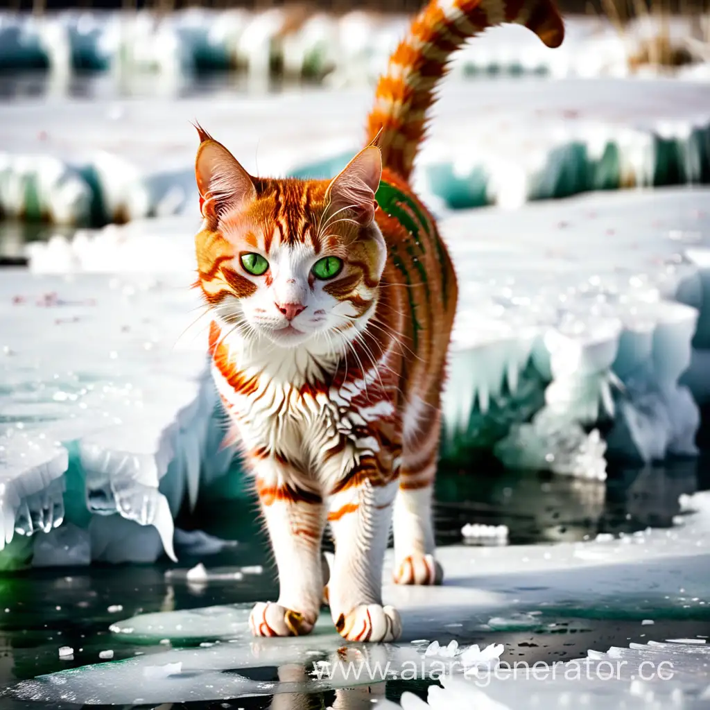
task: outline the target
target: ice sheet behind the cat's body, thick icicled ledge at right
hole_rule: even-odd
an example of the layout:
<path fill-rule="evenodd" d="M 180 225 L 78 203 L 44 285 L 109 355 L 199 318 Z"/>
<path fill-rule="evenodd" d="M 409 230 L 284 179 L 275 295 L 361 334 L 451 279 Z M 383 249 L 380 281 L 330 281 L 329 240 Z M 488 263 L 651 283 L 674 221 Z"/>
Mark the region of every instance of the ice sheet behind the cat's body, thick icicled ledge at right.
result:
<path fill-rule="evenodd" d="M 494 449 L 509 466 L 595 479 L 608 456 L 694 454 L 709 200 L 699 188 L 605 192 L 445 217 L 461 295 L 444 454 Z M 111 271 L 145 264 L 142 252 L 180 272 L 191 229 L 171 219 L 56 239 L 34 247 L 31 268 Z M 595 427 L 612 420 L 604 439 Z"/>

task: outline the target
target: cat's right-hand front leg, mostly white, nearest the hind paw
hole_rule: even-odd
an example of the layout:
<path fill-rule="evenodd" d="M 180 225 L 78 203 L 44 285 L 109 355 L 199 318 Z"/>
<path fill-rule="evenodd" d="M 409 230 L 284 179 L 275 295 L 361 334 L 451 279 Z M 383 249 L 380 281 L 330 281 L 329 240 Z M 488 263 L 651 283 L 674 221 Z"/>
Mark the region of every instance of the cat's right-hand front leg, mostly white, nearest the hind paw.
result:
<path fill-rule="evenodd" d="M 402 631 L 397 610 L 382 605 L 382 567 L 397 488 L 396 477 L 383 480 L 374 457 L 365 456 L 329 498 L 335 542 L 330 611 L 339 633 L 351 641 L 393 641 Z"/>

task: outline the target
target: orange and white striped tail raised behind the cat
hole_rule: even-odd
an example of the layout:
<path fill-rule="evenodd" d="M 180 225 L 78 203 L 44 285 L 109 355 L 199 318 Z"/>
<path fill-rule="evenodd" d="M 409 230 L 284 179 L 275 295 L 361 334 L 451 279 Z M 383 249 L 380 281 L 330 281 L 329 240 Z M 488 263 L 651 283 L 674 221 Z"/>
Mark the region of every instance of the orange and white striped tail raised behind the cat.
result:
<path fill-rule="evenodd" d="M 367 142 L 377 138 L 386 168 L 409 179 L 434 89 L 452 53 L 469 37 L 506 22 L 525 25 L 551 48 L 564 39 L 553 0 L 430 0 L 417 15 L 377 85 L 368 117 Z"/>

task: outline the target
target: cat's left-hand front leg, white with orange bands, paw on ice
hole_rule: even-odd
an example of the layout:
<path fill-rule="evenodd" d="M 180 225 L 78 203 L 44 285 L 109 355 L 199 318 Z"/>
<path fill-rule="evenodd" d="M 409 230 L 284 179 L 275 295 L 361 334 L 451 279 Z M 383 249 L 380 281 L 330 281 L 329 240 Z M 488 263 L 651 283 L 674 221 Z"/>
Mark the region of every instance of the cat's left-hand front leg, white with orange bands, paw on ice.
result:
<path fill-rule="evenodd" d="M 255 636 L 300 636 L 315 625 L 323 594 L 320 543 L 324 505 L 296 471 L 275 457 L 253 462 L 256 490 L 278 567 L 278 602 L 251 612 Z"/>

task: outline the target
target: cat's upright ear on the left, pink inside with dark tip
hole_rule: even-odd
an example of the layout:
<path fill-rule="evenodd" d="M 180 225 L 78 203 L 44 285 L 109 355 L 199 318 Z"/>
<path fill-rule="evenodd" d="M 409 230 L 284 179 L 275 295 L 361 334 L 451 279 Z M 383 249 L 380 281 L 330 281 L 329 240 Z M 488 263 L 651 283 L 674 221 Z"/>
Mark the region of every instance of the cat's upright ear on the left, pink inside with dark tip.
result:
<path fill-rule="evenodd" d="M 200 190 L 203 217 L 221 217 L 230 209 L 239 209 L 256 197 L 251 175 L 223 145 L 217 143 L 201 126 L 195 126 L 200 148 L 195 158 L 195 180 Z"/>

